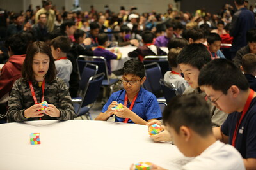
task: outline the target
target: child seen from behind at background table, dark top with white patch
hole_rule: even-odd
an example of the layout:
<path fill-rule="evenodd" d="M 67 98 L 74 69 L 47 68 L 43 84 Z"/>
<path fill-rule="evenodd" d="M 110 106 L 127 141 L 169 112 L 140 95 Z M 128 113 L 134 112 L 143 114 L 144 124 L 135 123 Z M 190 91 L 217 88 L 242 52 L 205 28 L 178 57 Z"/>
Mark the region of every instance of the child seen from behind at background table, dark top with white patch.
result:
<path fill-rule="evenodd" d="M 147 55 L 167 55 L 166 52 L 161 50 L 159 46 L 153 45 L 153 39 L 154 34 L 150 31 L 144 31 L 142 33 L 142 40 L 144 43 L 144 46 L 138 46 L 136 50 L 129 52 L 128 56 L 135 58 L 138 57 L 138 59 L 143 62 L 143 59 Z"/>

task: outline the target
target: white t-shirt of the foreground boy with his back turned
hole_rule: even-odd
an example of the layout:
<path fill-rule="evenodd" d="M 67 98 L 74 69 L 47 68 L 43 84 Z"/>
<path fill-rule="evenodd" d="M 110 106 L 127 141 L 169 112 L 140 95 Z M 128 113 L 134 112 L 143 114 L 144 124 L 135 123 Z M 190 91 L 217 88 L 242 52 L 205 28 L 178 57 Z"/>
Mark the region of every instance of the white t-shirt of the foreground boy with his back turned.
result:
<path fill-rule="evenodd" d="M 244 170 L 243 158 L 231 145 L 216 141 L 182 167 L 184 170 Z"/>

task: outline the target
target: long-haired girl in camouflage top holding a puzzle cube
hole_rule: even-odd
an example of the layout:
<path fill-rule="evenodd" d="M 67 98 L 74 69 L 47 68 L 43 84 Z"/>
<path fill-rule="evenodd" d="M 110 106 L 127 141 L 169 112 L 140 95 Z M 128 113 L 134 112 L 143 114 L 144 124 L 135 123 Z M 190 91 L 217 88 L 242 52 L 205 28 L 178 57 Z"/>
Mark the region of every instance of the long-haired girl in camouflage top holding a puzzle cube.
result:
<path fill-rule="evenodd" d="M 48 107 L 40 110 L 42 101 Z M 40 110 L 40 111 L 38 111 Z M 70 120 L 75 112 L 66 83 L 56 78 L 51 48 L 42 41 L 28 46 L 22 78 L 15 81 L 8 101 L 8 122 Z"/>

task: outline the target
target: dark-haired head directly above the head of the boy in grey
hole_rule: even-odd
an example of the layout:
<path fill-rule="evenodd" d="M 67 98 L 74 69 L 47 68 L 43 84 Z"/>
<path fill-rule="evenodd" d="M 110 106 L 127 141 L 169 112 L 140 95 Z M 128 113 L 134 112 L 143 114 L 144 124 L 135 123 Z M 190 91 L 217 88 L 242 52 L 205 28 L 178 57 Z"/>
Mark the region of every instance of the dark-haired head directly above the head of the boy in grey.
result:
<path fill-rule="evenodd" d="M 183 37 L 187 39 L 189 44 L 192 43 L 204 43 L 205 41 L 205 34 L 202 29 L 199 28 L 192 28 L 188 31 L 184 32 Z"/>

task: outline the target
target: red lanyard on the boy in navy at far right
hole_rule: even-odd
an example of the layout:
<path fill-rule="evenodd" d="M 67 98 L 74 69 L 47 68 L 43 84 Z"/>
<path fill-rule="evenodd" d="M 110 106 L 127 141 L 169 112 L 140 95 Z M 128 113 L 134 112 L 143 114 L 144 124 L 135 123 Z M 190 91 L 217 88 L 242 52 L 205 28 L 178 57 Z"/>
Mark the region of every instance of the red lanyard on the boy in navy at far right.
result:
<path fill-rule="evenodd" d="M 247 112 L 248 109 L 249 109 L 249 106 L 250 106 L 251 101 L 252 101 L 252 99 L 253 99 L 253 94 L 254 94 L 254 91 L 251 89 L 250 94 L 249 94 L 249 96 L 248 96 L 248 98 L 247 98 L 247 101 L 246 101 L 246 103 L 245 103 L 245 106 L 244 106 L 244 110 L 243 110 L 243 112 L 242 112 L 242 115 L 241 115 L 241 117 L 239 118 L 239 122 L 238 122 L 238 121 L 236 122 L 236 129 L 235 129 L 235 131 L 234 131 L 234 135 L 233 135 L 233 138 L 232 138 L 232 146 L 234 146 L 234 147 L 235 147 L 235 143 L 236 143 L 236 136 L 237 136 L 238 127 L 240 126 L 240 124 L 241 124 L 241 122 L 242 122 L 242 120 L 243 120 L 243 118 L 244 118 L 244 115 L 246 114 L 246 112 Z"/>

